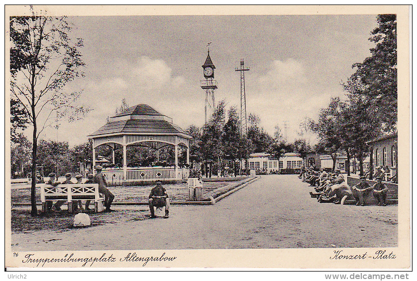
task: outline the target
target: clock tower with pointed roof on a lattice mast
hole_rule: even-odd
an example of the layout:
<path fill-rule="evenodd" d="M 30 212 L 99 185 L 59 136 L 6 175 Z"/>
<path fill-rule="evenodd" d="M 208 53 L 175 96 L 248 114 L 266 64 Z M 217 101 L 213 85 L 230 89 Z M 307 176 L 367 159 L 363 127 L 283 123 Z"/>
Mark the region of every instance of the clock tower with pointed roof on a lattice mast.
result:
<path fill-rule="evenodd" d="M 216 81 L 214 79 L 214 69 L 216 68 L 210 58 L 210 50 L 207 51 L 206 62 L 202 65 L 203 76 L 206 80 L 200 81 L 200 86 L 206 90 L 206 103 L 204 106 L 205 123 L 207 123 L 207 107 L 211 108 L 214 113 L 215 100 L 214 90 L 217 89 Z"/>

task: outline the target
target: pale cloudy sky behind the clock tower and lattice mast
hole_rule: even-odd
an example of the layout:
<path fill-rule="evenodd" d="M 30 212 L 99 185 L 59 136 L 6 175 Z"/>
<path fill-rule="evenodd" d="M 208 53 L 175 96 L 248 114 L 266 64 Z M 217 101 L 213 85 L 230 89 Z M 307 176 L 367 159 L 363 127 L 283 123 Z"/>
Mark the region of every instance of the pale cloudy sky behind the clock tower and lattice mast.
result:
<path fill-rule="evenodd" d="M 259 115 L 269 134 L 284 128 L 297 138 L 305 117 L 317 118 L 331 97 L 343 96 L 342 81 L 351 65 L 370 55 L 370 31 L 376 15 L 260 16 L 78 16 L 73 37 L 84 39 L 86 76 L 69 85 L 83 89 L 79 103 L 92 111 L 82 120 L 62 124 L 59 141 L 70 146 L 113 116 L 121 100 L 129 106 L 147 104 L 173 118 L 183 129 L 204 124 L 205 92 L 201 67 L 210 57 L 216 67 L 216 101 L 240 109 L 243 58 L 246 107 Z M 29 130 L 28 130 L 29 131 Z M 56 139 L 56 130 L 43 139 Z M 314 138 L 307 136 L 312 143 Z"/>

